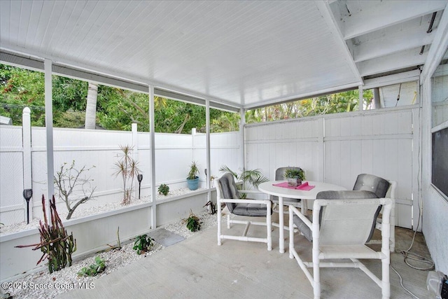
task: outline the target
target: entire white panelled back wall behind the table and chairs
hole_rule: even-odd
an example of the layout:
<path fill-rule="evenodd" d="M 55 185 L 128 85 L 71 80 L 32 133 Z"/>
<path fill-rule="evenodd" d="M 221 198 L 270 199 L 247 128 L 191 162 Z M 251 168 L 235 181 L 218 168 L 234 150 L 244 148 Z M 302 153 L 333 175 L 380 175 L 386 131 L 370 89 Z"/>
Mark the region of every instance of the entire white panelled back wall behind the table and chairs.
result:
<path fill-rule="evenodd" d="M 349 190 L 361 173 L 395 180 L 397 224 L 410 228 L 412 204 L 414 221 L 419 216 L 418 127 L 418 108 L 248 125 L 246 168 L 260 168 L 265 176 L 274 179 L 276 168 L 299 166 L 305 170 L 307 180 L 335 183 Z"/>

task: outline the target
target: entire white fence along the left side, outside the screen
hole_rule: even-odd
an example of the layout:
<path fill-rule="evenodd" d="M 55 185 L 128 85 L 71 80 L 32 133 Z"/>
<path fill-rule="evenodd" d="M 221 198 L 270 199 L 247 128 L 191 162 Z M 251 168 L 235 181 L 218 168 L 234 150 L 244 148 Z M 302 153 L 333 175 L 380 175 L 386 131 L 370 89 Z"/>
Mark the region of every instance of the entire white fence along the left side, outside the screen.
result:
<path fill-rule="evenodd" d="M 134 158 L 139 162 L 139 169 L 144 179 L 141 182 L 141 197 L 151 195 L 151 146 L 150 133 L 139 132 L 133 144 L 132 132 L 109 130 L 77 130 L 55 128 L 54 165 L 55 174 L 61 165 L 66 163 L 69 167 L 75 161 L 76 169 L 94 166 L 85 172 L 87 177 L 93 179 L 92 187 L 94 200 L 81 204 L 76 211 L 100 207 L 107 203 L 120 202 L 123 181 L 114 173 L 114 163 L 118 161 L 121 153 L 119 146 L 134 146 Z M 24 189 L 24 169 L 22 127 L 0 126 L 0 222 L 5 225 L 19 223 L 26 219 L 26 202 L 22 197 Z M 194 145 L 197 139 L 197 147 Z M 204 184 L 204 168 L 206 167 L 206 147 L 202 144 L 205 135 L 191 134 L 155 134 L 155 174 L 156 187 L 167 183 L 171 190 L 186 187 L 186 176 L 190 163 L 196 158 L 200 165 L 202 187 Z M 218 174 L 218 167 L 222 164 L 238 168 L 239 158 L 239 132 L 211 134 L 212 174 Z M 213 146 L 216 143 L 217 146 Z M 46 194 L 47 188 L 47 161 L 46 161 L 46 134 L 44 127 L 31 128 L 31 163 L 32 163 L 32 189 L 33 197 L 30 202 L 32 215 L 41 218 L 41 195 Z M 236 156 L 235 156 L 236 155 Z M 30 170 L 31 171 L 31 170 Z M 138 197 L 139 184 L 137 179 L 134 185 L 134 197 Z M 55 190 L 55 195 L 57 191 Z M 80 198 L 79 192 L 73 199 Z M 59 212 L 66 211 L 62 202 L 58 204 Z M 76 212 L 75 212 L 76 213 Z"/>

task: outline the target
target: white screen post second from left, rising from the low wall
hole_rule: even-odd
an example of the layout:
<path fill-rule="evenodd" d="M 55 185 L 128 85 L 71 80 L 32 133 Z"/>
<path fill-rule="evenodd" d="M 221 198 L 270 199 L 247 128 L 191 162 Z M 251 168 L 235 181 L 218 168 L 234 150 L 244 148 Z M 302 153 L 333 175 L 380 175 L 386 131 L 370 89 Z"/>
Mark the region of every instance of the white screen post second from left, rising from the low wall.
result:
<path fill-rule="evenodd" d="M 151 229 L 157 227 L 157 197 L 155 194 L 155 120 L 154 120 L 154 86 L 149 85 L 149 131 L 151 133 Z"/>

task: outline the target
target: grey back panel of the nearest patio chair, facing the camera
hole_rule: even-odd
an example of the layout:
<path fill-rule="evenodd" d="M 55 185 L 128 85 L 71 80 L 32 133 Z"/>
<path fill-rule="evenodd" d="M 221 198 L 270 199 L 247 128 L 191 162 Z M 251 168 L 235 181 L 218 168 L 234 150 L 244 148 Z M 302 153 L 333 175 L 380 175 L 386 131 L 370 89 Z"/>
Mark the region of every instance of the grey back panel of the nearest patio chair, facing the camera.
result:
<path fill-rule="evenodd" d="M 359 200 L 316 200 L 315 206 L 324 202 L 319 230 L 321 245 L 365 244 L 372 228 L 372 218 L 384 198 Z M 389 207 L 390 209 L 390 207 Z M 389 210 L 390 211 L 390 210 Z M 317 216 L 316 216 L 317 217 Z M 314 221 L 314 219 L 313 219 Z"/>

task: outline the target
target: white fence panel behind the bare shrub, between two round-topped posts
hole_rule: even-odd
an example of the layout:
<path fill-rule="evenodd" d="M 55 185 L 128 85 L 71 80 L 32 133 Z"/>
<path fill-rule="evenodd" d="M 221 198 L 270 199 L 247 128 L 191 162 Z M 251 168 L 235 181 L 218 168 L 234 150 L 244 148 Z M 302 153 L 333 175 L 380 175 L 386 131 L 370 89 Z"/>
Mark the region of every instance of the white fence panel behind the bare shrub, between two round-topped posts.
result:
<path fill-rule="evenodd" d="M 45 138 L 45 128 L 31 129 L 34 216 L 37 217 L 41 217 L 41 195 L 46 194 L 47 188 Z M 131 132 L 55 128 L 53 142 L 55 175 L 64 163 L 66 167 L 70 167 L 73 160 L 78 170 L 83 166 L 91 168 L 85 172 L 85 176 L 93 179 L 91 186 L 96 188 L 94 200 L 81 205 L 78 209 L 99 207 L 120 200 L 122 181 L 120 177 L 113 175 L 116 172 L 114 163 L 118 161 L 119 146 L 132 145 Z M 73 194 L 73 198 L 82 196 L 84 195 L 80 191 Z"/>

